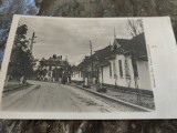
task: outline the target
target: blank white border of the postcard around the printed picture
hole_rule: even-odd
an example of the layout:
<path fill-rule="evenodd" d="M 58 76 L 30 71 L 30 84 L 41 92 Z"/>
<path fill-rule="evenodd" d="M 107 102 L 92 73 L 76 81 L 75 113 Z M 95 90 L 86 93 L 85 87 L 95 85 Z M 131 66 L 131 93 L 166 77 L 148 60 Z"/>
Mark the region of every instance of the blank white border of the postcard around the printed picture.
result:
<path fill-rule="evenodd" d="M 15 31 L 20 18 L 39 18 L 30 16 L 13 16 L 9 39 L 2 61 L 0 73 L 0 98 L 2 98 L 3 84 L 12 51 Z M 51 18 L 44 19 L 76 19 L 76 18 Z M 80 18 L 95 19 L 95 18 Z M 0 119 L 44 119 L 44 120 L 132 120 L 132 119 L 177 119 L 177 45 L 174 37 L 170 18 L 98 18 L 102 20 L 126 20 L 142 19 L 145 32 L 146 44 L 150 51 L 153 63 L 152 86 L 155 96 L 155 111 L 153 112 L 117 112 L 117 113 L 54 113 L 54 112 L 7 112 L 0 111 Z M 165 65 L 166 64 L 166 65 Z M 173 65 L 167 65 L 173 64 Z M 149 65 L 150 66 L 150 65 Z M 150 66 L 150 68 L 152 68 Z M 168 73 L 167 73 L 168 71 Z M 150 71 L 152 72 L 152 71 Z M 166 76 L 165 76 L 166 75 Z M 1 100 L 0 100 L 1 109 Z"/>

